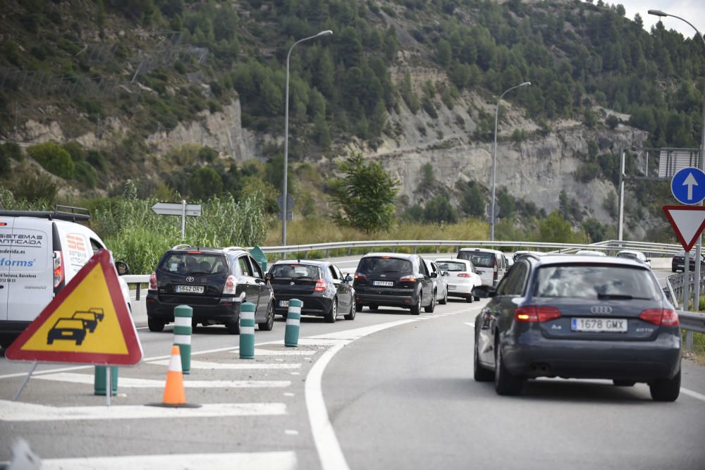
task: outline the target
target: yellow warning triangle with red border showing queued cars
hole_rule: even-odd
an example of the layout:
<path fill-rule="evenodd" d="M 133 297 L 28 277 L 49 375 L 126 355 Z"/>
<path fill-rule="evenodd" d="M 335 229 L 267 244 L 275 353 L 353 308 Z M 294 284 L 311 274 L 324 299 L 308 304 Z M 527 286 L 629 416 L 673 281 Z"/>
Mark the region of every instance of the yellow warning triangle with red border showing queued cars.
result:
<path fill-rule="evenodd" d="M 5 357 L 125 366 L 142 360 L 142 345 L 106 249 L 76 273 Z"/>

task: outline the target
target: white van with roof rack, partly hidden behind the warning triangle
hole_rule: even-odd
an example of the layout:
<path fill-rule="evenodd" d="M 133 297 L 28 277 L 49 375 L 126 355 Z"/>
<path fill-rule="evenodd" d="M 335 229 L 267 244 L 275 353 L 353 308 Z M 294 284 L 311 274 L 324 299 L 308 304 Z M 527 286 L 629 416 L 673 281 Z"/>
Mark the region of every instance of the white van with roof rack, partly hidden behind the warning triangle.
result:
<path fill-rule="evenodd" d="M 89 219 L 87 211 L 64 206 L 53 212 L 0 210 L 2 347 L 8 347 L 91 256 L 105 248 L 93 230 L 76 223 Z M 124 263 L 116 266 L 121 274 L 129 272 Z M 130 290 L 118 279 L 131 312 Z"/>

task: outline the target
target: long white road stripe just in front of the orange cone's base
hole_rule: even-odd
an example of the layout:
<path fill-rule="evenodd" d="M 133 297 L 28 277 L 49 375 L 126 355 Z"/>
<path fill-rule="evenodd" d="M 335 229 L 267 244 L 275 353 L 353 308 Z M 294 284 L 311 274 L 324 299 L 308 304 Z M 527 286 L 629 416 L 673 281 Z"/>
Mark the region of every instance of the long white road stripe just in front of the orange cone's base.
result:
<path fill-rule="evenodd" d="M 87 419 L 207 418 L 286 414 L 284 403 L 209 403 L 200 408 L 162 408 L 143 405 L 113 407 L 49 407 L 0 400 L 0 421 L 81 421 Z M 42 467 L 44 468 L 44 467 Z"/>

